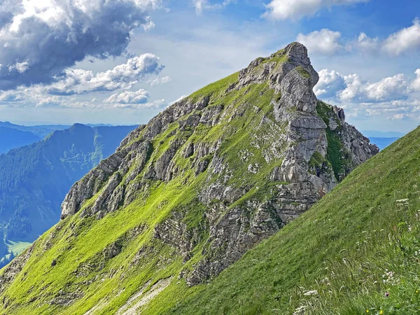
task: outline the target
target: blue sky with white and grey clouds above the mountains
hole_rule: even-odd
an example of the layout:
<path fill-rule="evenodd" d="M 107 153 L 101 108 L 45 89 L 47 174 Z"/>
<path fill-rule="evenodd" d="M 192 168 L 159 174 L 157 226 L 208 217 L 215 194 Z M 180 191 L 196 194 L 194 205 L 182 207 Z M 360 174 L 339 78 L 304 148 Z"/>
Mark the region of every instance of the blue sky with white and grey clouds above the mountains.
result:
<path fill-rule="evenodd" d="M 139 124 L 292 41 L 361 130 L 420 118 L 414 0 L 5 0 L 0 120 Z M 112 22 L 111 22 L 112 21 Z"/>

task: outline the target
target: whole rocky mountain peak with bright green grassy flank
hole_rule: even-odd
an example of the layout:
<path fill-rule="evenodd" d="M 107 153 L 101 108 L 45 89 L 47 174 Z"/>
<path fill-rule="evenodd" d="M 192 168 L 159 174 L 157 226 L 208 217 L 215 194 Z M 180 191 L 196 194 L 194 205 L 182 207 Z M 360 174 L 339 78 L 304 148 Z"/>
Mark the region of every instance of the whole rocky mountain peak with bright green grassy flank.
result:
<path fill-rule="evenodd" d="M 134 130 L 3 269 L 5 311 L 156 313 L 200 290 L 378 152 L 317 81 L 292 43 Z"/>

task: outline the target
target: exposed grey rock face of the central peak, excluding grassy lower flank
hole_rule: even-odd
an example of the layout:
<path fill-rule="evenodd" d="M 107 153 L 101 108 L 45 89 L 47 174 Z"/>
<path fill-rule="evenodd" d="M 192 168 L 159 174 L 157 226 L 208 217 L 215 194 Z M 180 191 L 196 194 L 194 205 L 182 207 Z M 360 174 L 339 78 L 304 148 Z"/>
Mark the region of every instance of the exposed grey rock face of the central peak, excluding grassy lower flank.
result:
<path fill-rule="evenodd" d="M 311 66 L 307 49 L 299 43 L 268 58 L 255 59 L 240 71 L 237 82 L 220 93 L 246 94 L 263 84 L 274 95 L 270 113 L 249 102 L 218 102 L 222 98 L 218 95 L 183 99 L 132 132 L 114 155 L 76 183 L 62 204 L 62 218 L 80 211 L 80 216 L 100 220 L 137 200 L 137 195 L 148 192 L 151 183 L 169 183 L 180 174 L 193 172 L 192 176 L 203 178 L 196 196 L 204 209 L 202 224 L 188 226 L 186 214 L 191 209 L 178 209 L 151 228 L 153 238 L 177 248 L 184 262 L 190 260 L 198 244 L 205 244 L 202 260 L 180 276 L 190 286 L 208 281 L 307 211 L 351 169 L 379 151 L 345 122 L 342 109 L 318 102 L 313 92 L 317 82 L 318 73 Z M 241 202 L 252 189 L 259 188 L 246 181 L 232 184 L 235 166 L 221 148 L 235 128 L 223 127 L 220 137 L 212 141 L 195 141 L 191 135 L 197 128 L 218 127 L 222 121 L 234 124 L 249 112 L 258 117 L 258 127 L 250 131 L 252 150 L 244 148 L 235 156 L 246 165 L 244 172 L 250 176 L 272 166 L 267 178 L 271 186 L 265 193 L 267 198 Z M 331 160 L 331 137 L 341 144 L 335 150 L 342 159 Z M 169 146 L 159 148 L 165 139 L 170 140 Z M 255 150 L 262 161 L 250 162 Z M 189 159 L 193 169 L 180 167 L 177 154 Z M 273 161 L 280 162 L 272 165 Z M 111 258 L 118 250 L 110 247 L 105 254 Z"/>

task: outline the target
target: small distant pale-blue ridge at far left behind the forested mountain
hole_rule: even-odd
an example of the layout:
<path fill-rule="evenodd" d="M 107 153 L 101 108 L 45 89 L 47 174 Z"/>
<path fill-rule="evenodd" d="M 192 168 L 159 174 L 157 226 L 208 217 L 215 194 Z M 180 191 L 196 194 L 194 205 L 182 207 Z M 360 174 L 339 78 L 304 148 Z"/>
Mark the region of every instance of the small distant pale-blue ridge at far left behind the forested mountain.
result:
<path fill-rule="evenodd" d="M 7 153 L 14 148 L 34 144 L 34 142 L 40 140 L 40 137 L 32 134 L 31 132 L 16 130 L 14 128 L 0 127 L 0 153 Z"/>

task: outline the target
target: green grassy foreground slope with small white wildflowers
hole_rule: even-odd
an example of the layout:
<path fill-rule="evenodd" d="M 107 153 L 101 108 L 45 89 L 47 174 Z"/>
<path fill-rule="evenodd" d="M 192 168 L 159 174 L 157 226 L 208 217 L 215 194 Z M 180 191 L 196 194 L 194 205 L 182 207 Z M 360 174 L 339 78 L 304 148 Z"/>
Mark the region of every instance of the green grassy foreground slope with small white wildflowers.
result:
<path fill-rule="evenodd" d="M 420 314 L 419 197 L 420 128 L 172 312 Z"/>

